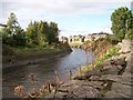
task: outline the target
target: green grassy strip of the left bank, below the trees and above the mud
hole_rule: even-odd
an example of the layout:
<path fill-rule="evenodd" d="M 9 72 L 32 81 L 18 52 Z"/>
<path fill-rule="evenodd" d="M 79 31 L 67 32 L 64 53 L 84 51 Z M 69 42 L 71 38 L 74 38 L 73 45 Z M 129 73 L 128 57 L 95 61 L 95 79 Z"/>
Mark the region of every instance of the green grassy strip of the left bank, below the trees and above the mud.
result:
<path fill-rule="evenodd" d="M 2 46 L 2 62 L 32 60 L 38 58 L 50 58 L 61 53 L 71 52 L 71 48 L 66 43 L 60 43 L 57 47 L 54 44 L 40 47 L 10 47 Z"/>

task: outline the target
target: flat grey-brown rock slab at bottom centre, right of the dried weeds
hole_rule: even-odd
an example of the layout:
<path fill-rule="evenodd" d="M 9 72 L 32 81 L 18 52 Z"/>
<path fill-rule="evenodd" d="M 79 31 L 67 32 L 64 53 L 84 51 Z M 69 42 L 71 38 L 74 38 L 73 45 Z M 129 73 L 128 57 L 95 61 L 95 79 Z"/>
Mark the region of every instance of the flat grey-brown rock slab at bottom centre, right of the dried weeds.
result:
<path fill-rule="evenodd" d="M 99 90 L 92 87 L 94 84 L 100 87 L 100 84 L 102 83 L 93 82 L 90 84 L 89 81 L 81 81 L 79 86 L 73 84 L 68 88 L 64 88 L 65 87 L 64 84 L 60 89 L 58 89 L 58 92 L 55 93 L 54 97 L 55 98 L 100 98 L 101 93 L 99 92 Z"/>

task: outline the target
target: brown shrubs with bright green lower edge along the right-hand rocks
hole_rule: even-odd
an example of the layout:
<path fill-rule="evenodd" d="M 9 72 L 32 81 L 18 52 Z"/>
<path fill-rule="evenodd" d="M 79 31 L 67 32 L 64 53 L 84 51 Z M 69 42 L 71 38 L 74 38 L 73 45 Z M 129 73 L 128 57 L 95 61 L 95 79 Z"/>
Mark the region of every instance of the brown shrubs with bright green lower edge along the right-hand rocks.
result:
<path fill-rule="evenodd" d="M 93 41 L 93 48 L 89 49 L 90 41 L 85 42 L 85 46 L 88 47 L 89 50 L 86 52 L 90 52 L 93 50 L 93 53 L 95 54 L 94 61 L 89 66 L 83 66 L 81 68 L 82 72 L 86 72 L 90 70 L 93 70 L 96 66 L 99 66 L 101 62 L 103 62 L 105 59 L 109 59 L 110 57 L 114 56 L 119 49 L 115 47 L 112 47 L 112 43 L 106 41 L 105 38 L 99 38 L 98 40 Z M 90 44 L 91 46 L 91 44 Z M 86 53 L 88 54 L 88 53 Z M 88 61 L 88 56 L 86 56 L 86 61 Z"/>

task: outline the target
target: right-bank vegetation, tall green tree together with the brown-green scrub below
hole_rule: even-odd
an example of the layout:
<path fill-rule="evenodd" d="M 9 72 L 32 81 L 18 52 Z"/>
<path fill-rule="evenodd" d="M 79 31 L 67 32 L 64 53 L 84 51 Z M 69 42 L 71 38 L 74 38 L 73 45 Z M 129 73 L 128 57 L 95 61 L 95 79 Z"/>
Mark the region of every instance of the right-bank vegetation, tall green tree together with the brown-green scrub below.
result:
<path fill-rule="evenodd" d="M 86 53 L 86 64 L 82 68 L 82 70 L 90 70 L 92 67 L 96 67 L 104 60 L 115 56 L 120 50 L 115 47 L 115 44 L 117 44 L 117 42 L 122 41 L 123 39 L 133 40 L 133 14 L 131 10 L 129 10 L 126 7 L 116 9 L 111 14 L 111 30 L 113 34 L 106 34 L 105 38 L 99 38 L 98 40 L 92 37 L 91 41 L 86 41 L 82 46 Z M 95 60 L 92 61 L 91 68 L 88 63 L 88 52 L 93 52 L 95 54 Z"/>

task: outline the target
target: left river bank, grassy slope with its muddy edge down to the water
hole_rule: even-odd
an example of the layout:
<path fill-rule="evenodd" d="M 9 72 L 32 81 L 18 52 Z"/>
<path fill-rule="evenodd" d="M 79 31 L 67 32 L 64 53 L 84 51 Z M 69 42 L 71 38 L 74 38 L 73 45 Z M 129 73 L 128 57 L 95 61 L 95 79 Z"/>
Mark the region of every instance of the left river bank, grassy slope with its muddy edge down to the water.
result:
<path fill-rule="evenodd" d="M 8 56 L 3 56 L 3 61 L 2 61 L 2 68 L 9 68 L 9 67 L 22 67 L 22 66 L 29 66 L 29 64 L 37 64 L 41 62 L 49 62 L 51 60 L 54 60 L 55 58 L 60 58 L 63 56 L 69 54 L 72 52 L 72 49 L 68 46 L 65 46 L 63 49 L 58 48 L 54 49 L 52 47 L 49 47 L 47 49 L 41 49 L 37 50 L 31 49 L 31 50 L 24 50 L 24 49 L 16 49 L 16 54 L 13 52 L 10 52 Z"/>

